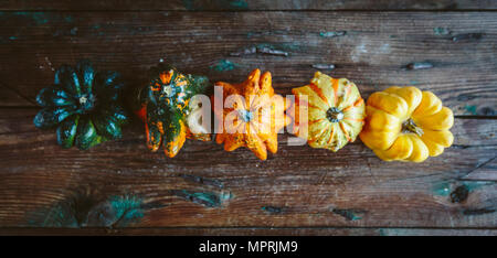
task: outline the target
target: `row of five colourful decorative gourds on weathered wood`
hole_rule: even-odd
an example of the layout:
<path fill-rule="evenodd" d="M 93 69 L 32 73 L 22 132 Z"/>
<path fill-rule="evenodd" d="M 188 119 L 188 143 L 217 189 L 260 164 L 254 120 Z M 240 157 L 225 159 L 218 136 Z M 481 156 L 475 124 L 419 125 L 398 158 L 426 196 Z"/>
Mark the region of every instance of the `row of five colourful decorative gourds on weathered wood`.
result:
<path fill-rule="evenodd" d="M 194 109 L 200 105 L 190 103 L 194 95 L 210 93 L 207 77 L 182 74 L 163 63 L 149 72 L 149 83 L 138 88 L 130 101 L 145 123 L 148 149 L 157 151 L 162 146 L 166 155 L 172 158 L 187 138 L 211 140 L 209 131 L 198 123 L 199 112 Z M 454 140 L 450 131 L 454 123 L 452 110 L 442 106 L 433 93 L 415 87 L 390 87 L 373 93 L 364 103 L 352 82 L 317 72 L 308 85 L 292 89 L 296 99 L 294 108 L 289 108 L 289 101 L 276 105 L 262 97 L 283 99 L 274 93 L 269 72 L 254 69 L 241 84 L 218 82 L 215 86 L 223 88 L 223 99 L 218 99 L 221 103 L 233 95 L 246 99 L 235 98 L 231 108 L 214 109 L 221 120 L 232 111 L 239 115 L 233 122 L 236 128 L 220 129 L 215 141 L 224 143 L 226 151 L 246 147 L 261 160 L 267 158 L 267 150 L 276 153 L 277 132 L 292 121 L 292 132 L 313 148 L 338 151 L 359 136 L 385 161 L 422 162 L 440 155 Z M 56 71 L 53 86 L 36 96 L 43 108 L 34 125 L 56 128 L 57 142 L 64 148 L 85 150 L 118 139 L 129 120 L 124 87 L 118 73 L 97 72 L 89 61 L 80 61 L 75 67 L 64 65 Z M 269 121 L 253 119 L 268 106 L 273 115 Z M 304 120 L 299 115 L 303 110 L 308 114 Z M 268 131 L 257 131 L 261 127 Z M 233 130 L 240 128 L 247 133 Z"/>

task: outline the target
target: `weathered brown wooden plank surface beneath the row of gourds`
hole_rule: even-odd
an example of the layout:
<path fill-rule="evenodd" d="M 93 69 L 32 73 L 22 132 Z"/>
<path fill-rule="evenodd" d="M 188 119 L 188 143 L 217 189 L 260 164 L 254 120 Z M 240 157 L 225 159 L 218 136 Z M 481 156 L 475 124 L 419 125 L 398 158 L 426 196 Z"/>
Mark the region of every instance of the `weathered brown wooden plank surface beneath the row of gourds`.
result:
<path fill-rule="evenodd" d="M 497 1 L 1 0 L 0 234 L 497 235 Z M 64 150 L 34 128 L 54 69 L 91 58 L 139 85 L 160 60 L 211 80 L 273 73 L 289 94 L 320 69 L 363 97 L 391 85 L 438 95 L 454 146 L 383 162 L 288 147 L 258 161 L 188 141 L 167 159 L 125 138 Z M 331 69 L 331 67 L 335 67 Z"/>

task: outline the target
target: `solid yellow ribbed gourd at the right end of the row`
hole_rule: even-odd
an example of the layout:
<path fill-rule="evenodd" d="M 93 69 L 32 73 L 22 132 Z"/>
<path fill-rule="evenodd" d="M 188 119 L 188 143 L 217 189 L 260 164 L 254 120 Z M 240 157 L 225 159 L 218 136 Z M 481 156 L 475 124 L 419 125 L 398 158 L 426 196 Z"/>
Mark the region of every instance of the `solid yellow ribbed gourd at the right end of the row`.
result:
<path fill-rule="evenodd" d="M 422 162 L 436 157 L 454 141 L 454 115 L 431 92 L 390 87 L 373 93 L 366 105 L 360 138 L 385 161 Z"/>

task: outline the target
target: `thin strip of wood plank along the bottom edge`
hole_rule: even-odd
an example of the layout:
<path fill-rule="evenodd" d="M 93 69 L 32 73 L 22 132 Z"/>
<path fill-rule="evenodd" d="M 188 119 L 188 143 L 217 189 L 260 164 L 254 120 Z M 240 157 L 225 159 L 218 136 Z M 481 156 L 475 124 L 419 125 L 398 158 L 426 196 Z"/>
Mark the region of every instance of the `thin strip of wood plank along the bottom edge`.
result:
<path fill-rule="evenodd" d="M 466 228 L 0 228 L 1 236 L 497 236 Z"/>

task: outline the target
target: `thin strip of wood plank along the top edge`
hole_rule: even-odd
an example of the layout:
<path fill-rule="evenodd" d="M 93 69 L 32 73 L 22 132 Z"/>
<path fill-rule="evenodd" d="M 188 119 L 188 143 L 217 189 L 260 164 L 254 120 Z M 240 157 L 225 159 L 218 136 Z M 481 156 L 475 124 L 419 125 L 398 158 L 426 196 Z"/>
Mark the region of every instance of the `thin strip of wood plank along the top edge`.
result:
<path fill-rule="evenodd" d="M 482 10 L 497 9 L 493 0 L 3 0 L 0 10 Z"/>

